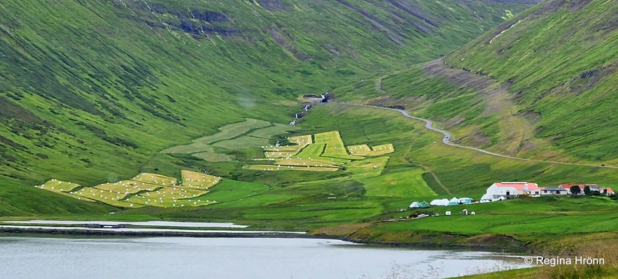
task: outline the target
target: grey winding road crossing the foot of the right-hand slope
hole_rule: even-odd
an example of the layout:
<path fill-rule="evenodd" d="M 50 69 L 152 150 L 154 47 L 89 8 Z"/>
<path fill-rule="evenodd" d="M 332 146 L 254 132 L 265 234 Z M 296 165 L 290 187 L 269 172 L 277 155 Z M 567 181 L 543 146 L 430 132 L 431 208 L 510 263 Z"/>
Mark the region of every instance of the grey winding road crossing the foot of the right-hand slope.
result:
<path fill-rule="evenodd" d="M 573 166 L 593 166 L 593 167 L 597 167 L 597 168 L 618 169 L 618 166 L 607 166 L 607 165 L 602 166 L 601 164 L 578 164 L 578 163 L 568 163 L 568 162 L 545 161 L 545 160 L 539 160 L 539 159 L 526 159 L 526 158 L 502 155 L 502 154 L 490 152 L 490 151 L 487 151 L 487 150 L 484 150 L 484 149 L 481 149 L 481 148 L 473 148 L 471 146 L 459 145 L 459 144 L 456 144 L 456 143 L 451 143 L 451 133 L 449 133 L 449 131 L 445 131 L 445 130 L 442 130 L 442 129 L 434 128 L 433 127 L 433 121 L 428 120 L 428 119 L 424 119 L 424 118 L 421 118 L 421 117 L 416 117 L 416 116 L 409 115 L 407 113 L 407 111 L 405 111 L 405 110 L 400 110 L 400 109 L 397 109 L 397 108 L 385 108 L 385 107 L 382 107 L 382 106 L 367 106 L 367 105 L 356 105 L 356 104 L 348 104 L 348 105 L 349 106 L 363 106 L 363 107 L 366 107 L 366 108 L 379 108 L 379 109 L 384 109 L 384 110 L 395 110 L 395 111 L 398 111 L 399 113 L 401 113 L 405 117 L 425 122 L 425 127 L 427 129 L 430 129 L 431 131 L 437 131 L 438 133 L 444 135 L 444 138 L 442 138 L 442 143 L 444 143 L 446 145 L 454 146 L 456 148 L 464 148 L 464 149 L 469 149 L 469 150 L 475 150 L 477 152 L 482 152 L 482 153 L 484 153 L 486 155 L 491 155 L 491 156 L 496 156 L 496 157 L 503 157 L 503 158 L 507 158 L 507 159 L 516 159 L 516 160 L 521 160 L 521 161 L 542 162 L 542 163 L 549 163 L 549 164 L 563 164 L 563 165 L 573 165 Z"/>

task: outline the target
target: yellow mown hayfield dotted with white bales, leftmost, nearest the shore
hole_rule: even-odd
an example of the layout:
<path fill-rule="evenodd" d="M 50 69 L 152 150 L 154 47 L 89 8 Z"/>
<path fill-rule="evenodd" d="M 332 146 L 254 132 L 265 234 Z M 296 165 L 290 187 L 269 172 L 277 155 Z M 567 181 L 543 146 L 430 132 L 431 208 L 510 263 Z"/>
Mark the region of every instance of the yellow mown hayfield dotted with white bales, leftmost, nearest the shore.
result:
<path fill-rule="evenodd" d="M 181 171 L 182 181 L 156 173 L 140 173 L 130 180 L 116 183 L 103 183 L 93 187 L 83 187 L 70 182 L 52 179 L 35 186 L 57 194 L 71 196 L 83 201 L 100 201 L 120 207 L 183 207 L 204 206 L 215 203 L 205 199 L 210 187 L 220 182 L 220 178 L 194 171 Z"/>

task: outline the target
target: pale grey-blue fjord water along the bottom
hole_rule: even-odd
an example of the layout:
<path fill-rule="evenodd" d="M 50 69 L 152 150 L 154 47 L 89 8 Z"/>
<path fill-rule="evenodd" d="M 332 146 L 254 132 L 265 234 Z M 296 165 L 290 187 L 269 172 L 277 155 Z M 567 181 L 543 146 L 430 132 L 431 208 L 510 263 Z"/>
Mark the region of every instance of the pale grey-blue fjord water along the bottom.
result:
<path fill-rule="evenodd" d="M 0 237 L 3 278 L 446 278 L 524 267 L 489 252 L 314 238 Z"/>

